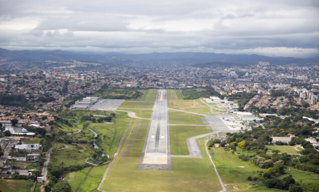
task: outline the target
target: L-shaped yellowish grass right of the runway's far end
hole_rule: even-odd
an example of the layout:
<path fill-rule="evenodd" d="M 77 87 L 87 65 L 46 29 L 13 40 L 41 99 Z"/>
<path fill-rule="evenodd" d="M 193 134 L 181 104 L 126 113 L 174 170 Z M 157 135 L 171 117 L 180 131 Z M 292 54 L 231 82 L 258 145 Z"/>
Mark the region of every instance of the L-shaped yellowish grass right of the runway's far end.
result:
<path fill-rule="evenodd" d="M 183 100 L 179 90 L 169 89 L 167 90 L 168 107 L 173 109 L 201 109 L 208 108 L 199 99 Z"/>

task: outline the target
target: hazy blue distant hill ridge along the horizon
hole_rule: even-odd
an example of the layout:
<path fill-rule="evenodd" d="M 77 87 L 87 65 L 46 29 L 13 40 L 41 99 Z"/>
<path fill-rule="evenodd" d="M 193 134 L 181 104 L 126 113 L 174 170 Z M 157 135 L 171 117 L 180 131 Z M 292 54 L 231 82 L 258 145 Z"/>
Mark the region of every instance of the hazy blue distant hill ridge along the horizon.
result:
<path fill-rule="evenodd" d="M 131 67 L 158 67 L 158 66 L 194 66 L 194 67 L 221 67 L 256 65 L 259 61 L 274 65 L 285 64 L 312 64 L 319 63 L 319 58 L 267 57 L 261 55 L 231 55 L 203 52 L 179 53 L 150 53 L 150 54 L 122 54 L 122 53 L 73 53 L 61 50 L 46 51 L 10 51 L 0 48 L 1 61 L 64 61 L 77 60 L 100 63 L 124 64 Z"/>

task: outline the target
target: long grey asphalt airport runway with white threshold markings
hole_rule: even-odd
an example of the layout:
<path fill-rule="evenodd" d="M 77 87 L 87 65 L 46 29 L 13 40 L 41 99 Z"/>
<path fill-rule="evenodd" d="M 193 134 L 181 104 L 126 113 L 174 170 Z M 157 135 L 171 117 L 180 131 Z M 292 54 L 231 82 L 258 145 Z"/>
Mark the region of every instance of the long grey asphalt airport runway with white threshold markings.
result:
<path fill-rule="evenodd" d="M 138 169 L 171 170 L 167 90 L 159 89 Z"/>

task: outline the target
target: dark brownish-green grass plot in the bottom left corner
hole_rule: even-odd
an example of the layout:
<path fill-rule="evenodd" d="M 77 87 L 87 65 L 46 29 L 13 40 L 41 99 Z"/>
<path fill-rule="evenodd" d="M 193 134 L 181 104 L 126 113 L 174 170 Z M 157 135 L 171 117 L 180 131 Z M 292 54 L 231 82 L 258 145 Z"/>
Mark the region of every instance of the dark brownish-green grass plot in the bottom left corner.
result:
<path fill-rule="evenodd" d="M 6 192 L 30 192 L 35 182 L 29 180 L 0 178 L 0 190 Z"/>

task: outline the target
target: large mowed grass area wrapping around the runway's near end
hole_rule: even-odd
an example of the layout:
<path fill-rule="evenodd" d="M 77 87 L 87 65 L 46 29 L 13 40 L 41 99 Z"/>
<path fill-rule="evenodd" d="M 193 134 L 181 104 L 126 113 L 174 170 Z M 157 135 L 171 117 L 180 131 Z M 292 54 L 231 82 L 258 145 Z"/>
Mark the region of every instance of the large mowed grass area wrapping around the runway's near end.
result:
<path fill-rule="evenodd" d="M 149 121 L 137 119 L 102 183 L 103 191 L 220 191 L 208 158 L 171 158 L 172 170 L 138 170 Z"/>

